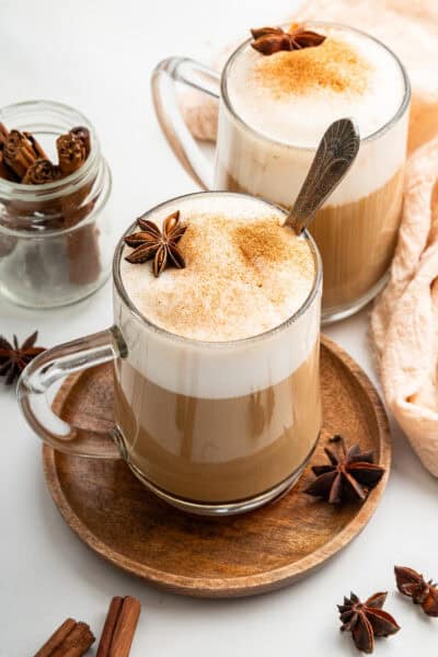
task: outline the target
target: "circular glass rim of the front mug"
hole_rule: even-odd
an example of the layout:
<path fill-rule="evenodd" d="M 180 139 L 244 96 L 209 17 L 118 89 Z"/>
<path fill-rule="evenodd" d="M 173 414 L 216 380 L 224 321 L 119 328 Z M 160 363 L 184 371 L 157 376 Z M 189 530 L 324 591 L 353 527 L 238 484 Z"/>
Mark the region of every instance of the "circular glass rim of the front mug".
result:
<path fill-rule="evenodd" d="M 165 206 L 168 206 L 171 203 L 174 203 L 177 200 L 189 199 L 189 198 L 197 197 L 197 196 L 205 196 L 206 194 L 212 195 L 212 196 L 226 195 L 226 196 L 239 196 L 239 197 L 244 197 L 244 198 L 253 198 L 266 206 L 269 206 L 272 208 L 276 208 L 276 209 L 280 210 L 285 216 L 287 215 L 287 210 L 284 207 L 279 206 L 275 203 L 272 203 L 269 200 L 266 200 L 265 198 L 260 198 L 257 196 L 253 196 L 252 194 L 242 194 L 242 193 L 238 193 L 238 192 L 228 192 L 228 191 L 212 191 L 212 192 L 194 192 L 191 194 L 184 194 L 182 196 L 175 196 L 174 198 L 169 198 L 169 199 L 155 205 L 154 207 L 150 208 L 140 217 L 141 218 L 148 217 L 152 212 L 155 212 L 157 210 L 164 208 Z M 303 303 L 298 308 L 298 310 L 295 313 L 292 313 L 290 316 L 288 316 L 284 322 L 281 322 L 280 324 L 277 324 L 276 326 L 274 326 L 273 328 L 269 328 L 268 331 L 264 331 L 263 333 L 257 333 L 256 335 L 251 335 L 249 337 L 243 337 L 243 338 L 232 339 L 232 341 L 200 341 L 200 339 L 196 339 L 193 337 L 185 337 L 183 335 L 172 333 L 171 331 L 166 331 L 165 328 L 159 326 L 158 324 L 154 324 L 148 318 L 146 318 L 139 311 L 139 309 L 135 306 L 135 303 L 132 303 L 132 301 L 130 300 L 129 295 L 127 293 L 125 286 L 123 284 L 122 275 L 120 275 L 120 261 L 122 261 L 122 253 L 123 253 L 123 250 L 125 246 L 124 238 L 132 232 L 136 224 L 137 224 L 137 221 L 135 221 L 127 228 L 127 230 L 123 233 L 122 238 L 119 239 L 117 246 L 115 249 L 114 258 L 113 258 L 114 286 L 115 286 L 115 289 L 117 290 L 117 293 L 118 293 L 120 300 L 124 302 L 124 304 L 127 307 L 127 309 L 136 316 L 136 319 L 138 321 L 140 321 L 142 324 L 146 324 L 148 326 L 148 328 L 150 328 L 154 333 L 162 335 L 163 337 L 165 337 L 168 339 L 172 339 L 173 342 L 177 342 L 180 344 L 197 346 L 197 347 L 201 347 L 205 349 L 233 348 L 233 347 L 238 347 L 238 346 L 252 345 L 256 342 L 261 342 L 267 337 L 270 337 L 273 335 L 276 335 L 277 333 L 280 333 L 283 330 L 287 328 L 288 326 L 291 326 L 312 306 L 315 297 L 318 296 L 319 291 L 322 289 L 323 274 L 322 274 L 321 255 L 320 255 L 320 252 L 318 250 L 318 246 L 316 246 L 312 235 L 310 234 L 310 232 L 308 230 L 304 230 L 303 231 L 304 238 L 308 241 L 310 250 L 313 255 L 313 261 L 315 264 L 315 274 L 314 274 L 314 278 L 313 278 L 313 283 L 312 283 L 312 288 L 311 288 L 308 297 L 306 298 Z"/>

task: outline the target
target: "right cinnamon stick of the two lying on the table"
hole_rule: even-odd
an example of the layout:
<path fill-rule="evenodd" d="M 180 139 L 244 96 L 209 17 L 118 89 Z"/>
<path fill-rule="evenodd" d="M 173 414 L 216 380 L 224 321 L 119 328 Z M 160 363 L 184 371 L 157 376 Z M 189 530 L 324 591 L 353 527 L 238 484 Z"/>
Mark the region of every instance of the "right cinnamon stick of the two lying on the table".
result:
<path fill-rule="evenodd" d="M 112 599 L 96 657 L 128 657 L 140 609 L 140 602 L 131 596 Z"/>

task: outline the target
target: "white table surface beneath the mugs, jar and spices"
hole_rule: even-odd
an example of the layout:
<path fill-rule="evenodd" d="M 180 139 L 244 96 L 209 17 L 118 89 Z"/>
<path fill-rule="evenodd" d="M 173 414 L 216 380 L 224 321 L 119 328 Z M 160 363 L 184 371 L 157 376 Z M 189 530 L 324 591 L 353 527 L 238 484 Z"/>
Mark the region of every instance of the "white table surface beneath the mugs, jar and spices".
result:
<path fill-rule="evenodd" d="M 0 0 L 0 104 L 53 99 L 83 111 L 100 134 L 114 174 L 116 231 L 168 197 L 195 189 L 160 135 L 149 74 L 171 55 L 206 57 L 245 27 L 278 21 L 293 0 Z M 232 21 L 232 25 L 230 23 Z M 367 345 L 368 311 L 327 330 L 376 381 Z M 111 286 L 56 311 L 0 302 L 0 334 L 36 327 L 51 346 L 112 321 Z M 394 459 L 383 500 L 346 550 L 298 584 L 256 598 L 193 600 L 153 589 L 103 562 L 70 531 L 46 489 L 41 445 L 14 393 L 0 389 L 0 657 L 28 657 L 60 621 L 87 620 L 100 633 L 114 595 L 137 596 L 139 657 L 356 654 L 337 627 L 336 603 L 390 590 L 387 608 L 402 631 L 377 654 L 436 653 L 438 621 L 394 592 L 394 563 L 438 577 L 437 482 L 394 428 Z M 94 653 L 93 653 L 94 654 Z"/>

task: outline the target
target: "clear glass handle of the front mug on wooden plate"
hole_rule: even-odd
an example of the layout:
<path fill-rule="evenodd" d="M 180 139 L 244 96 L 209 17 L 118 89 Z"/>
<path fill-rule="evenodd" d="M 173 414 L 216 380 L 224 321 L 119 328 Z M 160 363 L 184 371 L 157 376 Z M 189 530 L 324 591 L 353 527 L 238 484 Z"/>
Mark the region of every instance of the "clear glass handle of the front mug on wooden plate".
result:
<path fill-rule="evenodd" d="M 44 442 L 69 454 L 97 459 L 124 457 L 115 431 L 71 427 L 55 415 L 46 399 L 46 392 L 60 379 L 124 355 L 125 343 L 118 328 L 113 326 L 47 349 L 27 365 L 19 380 L 16 394 L 28 425 Z"/>

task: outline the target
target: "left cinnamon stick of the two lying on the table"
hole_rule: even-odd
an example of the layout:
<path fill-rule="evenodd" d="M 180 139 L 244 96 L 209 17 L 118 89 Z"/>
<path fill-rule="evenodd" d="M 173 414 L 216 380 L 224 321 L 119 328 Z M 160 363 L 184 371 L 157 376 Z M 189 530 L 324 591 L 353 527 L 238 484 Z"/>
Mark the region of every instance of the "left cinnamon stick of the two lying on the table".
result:
<path fill-rule="evenodd" d="M 87 623 L 67 619 L 47 639 L 35 657 L 82 657 L 94 642 Z"/>

